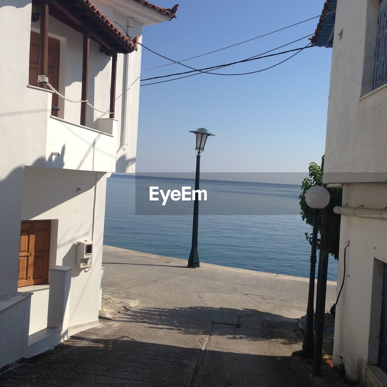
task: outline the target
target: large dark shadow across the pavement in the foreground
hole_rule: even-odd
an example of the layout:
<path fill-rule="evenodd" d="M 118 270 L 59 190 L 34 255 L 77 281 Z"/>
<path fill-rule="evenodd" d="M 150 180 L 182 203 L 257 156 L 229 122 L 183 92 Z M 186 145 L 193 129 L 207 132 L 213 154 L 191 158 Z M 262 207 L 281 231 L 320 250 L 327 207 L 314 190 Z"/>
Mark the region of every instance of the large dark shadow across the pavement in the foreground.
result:
<path fill-rule="evenodd" d="M 93 330 L 95 332 L 95 330 Z M 289 356 L 202 350 L 82 332 L 0 376 L 0 386 L 207 387 L 337 385 L 316 383 Z M 201 359 L 200 366 L 199 360 Z M 193 384 L 193 382 L 195 383 Z M 338 381 L 337 381 L 338 382 Z M 341 384 L 340 384 L 341 385 Z"/>

